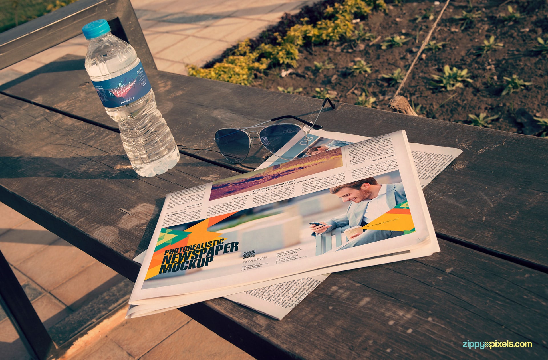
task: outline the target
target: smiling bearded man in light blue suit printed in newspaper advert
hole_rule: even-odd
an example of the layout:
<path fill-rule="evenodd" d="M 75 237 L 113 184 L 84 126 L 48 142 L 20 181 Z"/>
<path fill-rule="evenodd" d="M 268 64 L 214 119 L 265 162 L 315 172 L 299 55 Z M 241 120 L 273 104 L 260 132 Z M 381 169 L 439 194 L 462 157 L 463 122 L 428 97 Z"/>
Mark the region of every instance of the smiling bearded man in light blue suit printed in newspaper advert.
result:
<path fill-rule="evenodd" d="M 321 221 L 320 225 L 311 225 L 312 235 L 321 234 L 335 227 L 346 225 L 364 226 L 374 219 L 394 208 L 396 204 L 407 201 L 406 193 L 401 182 L 397 184 L 378 184 L 374 178 L 367 178 L 338 185 L 329 189 L 329 192 L 352 202 L 346 213 L 337 218 Z M 403 235 L 403 231 L 366 230 L 350 237 L 350 242 L 339 250 L 373 243 L 392 237 Z"/>

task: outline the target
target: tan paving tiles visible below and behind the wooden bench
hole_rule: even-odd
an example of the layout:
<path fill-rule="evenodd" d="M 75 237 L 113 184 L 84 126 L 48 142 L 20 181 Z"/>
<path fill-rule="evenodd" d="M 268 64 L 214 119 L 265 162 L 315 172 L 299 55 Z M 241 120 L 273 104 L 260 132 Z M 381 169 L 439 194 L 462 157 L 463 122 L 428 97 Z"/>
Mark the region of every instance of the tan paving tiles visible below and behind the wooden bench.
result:
<path fill-rule="evenodd" d="M 284 12 L 296 13 L 313 2 L 132 0 L 159 70 L 183 75 L 187 65 L 202 66 L 276 24 Z M 86 51 L 83 36 L 72 38 L 1 70 L 0 84 L 66 54 L 85 56 Z M 177 310 L 125 320 L 132 283 L 2 203 L 0 250 L 54 340 L 85 334 L 66 359 L 176 359 L 181 353 L 196 359 L 252 358 Z M 90 323 L 91 329 L 85 328 Z M 3 360 L 30 359 L 1 310 L 0 354 Z"/>

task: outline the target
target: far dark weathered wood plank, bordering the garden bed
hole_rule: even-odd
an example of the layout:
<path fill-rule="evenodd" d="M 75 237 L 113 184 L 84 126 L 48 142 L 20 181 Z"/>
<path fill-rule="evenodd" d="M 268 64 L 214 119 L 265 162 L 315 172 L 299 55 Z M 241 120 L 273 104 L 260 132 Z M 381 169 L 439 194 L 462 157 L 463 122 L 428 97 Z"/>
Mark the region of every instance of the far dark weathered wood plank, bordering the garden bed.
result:
<path fill-rule="evenodd" d="M 82 60 L 68 56 L 0 89 L 114 126 L 82 69 Z M 149 77 L 182 151 L 229 167 L 214 145 L 216 129 L 287 114 L 313 118 L 321 102 L 166 72 Z M 438 234 L 548 266 L 548 222 L 538 210 L 548 207 L 546 139 L 348 104 L 318 122 L 326 130 L 368 136 L 406 129 L 412 142 L 461 148 L 463 154 L 424 190 Z"/>

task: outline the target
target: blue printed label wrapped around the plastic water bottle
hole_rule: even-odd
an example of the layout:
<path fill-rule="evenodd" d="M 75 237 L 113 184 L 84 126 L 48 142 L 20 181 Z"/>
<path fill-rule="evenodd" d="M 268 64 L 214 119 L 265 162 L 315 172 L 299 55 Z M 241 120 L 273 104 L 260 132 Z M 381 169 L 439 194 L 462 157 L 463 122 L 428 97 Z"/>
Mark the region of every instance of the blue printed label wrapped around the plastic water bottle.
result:
<path fill-rule="evenodd" d="M 128 72 L 103 81 L 92 81 L 104 107 L 131 104 L 150 92 L 150 82 L 145 69 L 139 64 Z"/>

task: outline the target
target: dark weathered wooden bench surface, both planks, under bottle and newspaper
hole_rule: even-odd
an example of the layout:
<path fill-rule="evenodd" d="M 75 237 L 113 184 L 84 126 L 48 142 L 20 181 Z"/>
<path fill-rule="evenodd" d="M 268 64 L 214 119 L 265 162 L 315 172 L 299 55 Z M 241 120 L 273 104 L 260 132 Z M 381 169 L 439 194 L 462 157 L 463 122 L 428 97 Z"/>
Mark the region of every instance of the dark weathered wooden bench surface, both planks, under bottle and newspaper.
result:
<path fill-rule="evenodd" d="M 130 168 L 116 124 L 66 56 L 0 86 L 0 199 L 135 281 L 167 193 L 247 172 L 216 129 L 282 115 L 313 119 L 321 100 L 147 68 L 181 159 L 154 178 Z M 214 299 L 180 310 L 259 359 L 546 358 L 548 140 L 337 103 L 325 130 L 463 153 L 424 188 L 441 252 L 334 273 L 282 321 Z M 67 259 L 70 261 L 70 259 Z M 138 336 L 138 334 L 136 334 Z M 473 350 L 466 341 L 531 342 Z M 213 345 L 214 346 L 214 345 Z"/>

